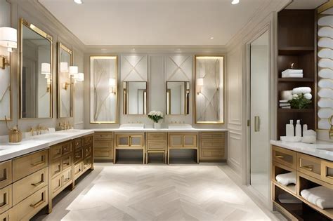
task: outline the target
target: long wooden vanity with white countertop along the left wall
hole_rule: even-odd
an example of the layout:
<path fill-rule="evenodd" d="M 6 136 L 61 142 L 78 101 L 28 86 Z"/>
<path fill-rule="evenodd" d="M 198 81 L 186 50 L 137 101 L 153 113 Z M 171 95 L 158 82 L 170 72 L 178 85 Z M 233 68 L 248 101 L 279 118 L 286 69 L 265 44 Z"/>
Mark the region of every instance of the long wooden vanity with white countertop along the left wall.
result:
<path fill-rule="evenodd" d="M 29 220 L 45 206 L 51 213 L 52 199 L 93 169 L 92 130 L 37 135 L 0 149 L 0 220 Z"/>

